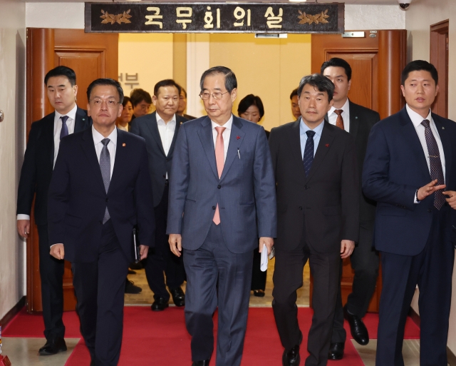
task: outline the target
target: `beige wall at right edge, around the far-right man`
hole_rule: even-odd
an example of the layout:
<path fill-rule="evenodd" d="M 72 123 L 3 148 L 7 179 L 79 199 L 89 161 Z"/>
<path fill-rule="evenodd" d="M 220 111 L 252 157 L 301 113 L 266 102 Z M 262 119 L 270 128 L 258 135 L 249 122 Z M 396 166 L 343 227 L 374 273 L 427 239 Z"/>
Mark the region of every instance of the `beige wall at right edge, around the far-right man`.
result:
<path fill-rule="evenodd" d="M 448 75 L 448 117 L 456 121 L 456 6 L 455 0 L 414 1 L 405 12 L 405 25 L 408 30 L 408 61 L 430 59 L 430 25 L 450 19 L 449 75 Z M 418 290 L 413 298 L 412 307 L 418 312 Z M 450 313 L 450 332 L 448 347 L 456 354 L 456 271 L 452 279 L 452 307 Z"/>

